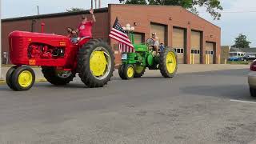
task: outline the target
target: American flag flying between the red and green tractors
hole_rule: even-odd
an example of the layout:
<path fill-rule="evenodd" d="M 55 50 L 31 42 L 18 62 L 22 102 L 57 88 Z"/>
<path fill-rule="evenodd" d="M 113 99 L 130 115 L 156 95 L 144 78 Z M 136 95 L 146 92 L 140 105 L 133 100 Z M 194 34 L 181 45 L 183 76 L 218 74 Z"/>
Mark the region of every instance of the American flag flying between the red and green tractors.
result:
<path fill-rule="evenodd" d="M 110 38 L 119 42 L 119 50 L 121 53 L 133 53 L 135 52 L 133 44 L 130 42 L 126 31 L 122 29 L 122 26 L 118 22 L 118 18 L 115 19 L 114 26 L 110 31 Z"/>

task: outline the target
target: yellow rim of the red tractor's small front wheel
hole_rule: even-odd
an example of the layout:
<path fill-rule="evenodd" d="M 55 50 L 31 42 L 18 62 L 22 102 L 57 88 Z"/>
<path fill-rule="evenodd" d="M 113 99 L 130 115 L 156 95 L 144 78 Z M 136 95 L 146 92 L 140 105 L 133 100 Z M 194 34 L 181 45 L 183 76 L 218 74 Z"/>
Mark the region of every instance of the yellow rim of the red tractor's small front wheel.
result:
<path fill-rule="evenodd" d="M 24 88 L 30 86 L 33 82 L 33 75 L 30 71 L 24 70 L 18 75 L 18 84 Z"/>

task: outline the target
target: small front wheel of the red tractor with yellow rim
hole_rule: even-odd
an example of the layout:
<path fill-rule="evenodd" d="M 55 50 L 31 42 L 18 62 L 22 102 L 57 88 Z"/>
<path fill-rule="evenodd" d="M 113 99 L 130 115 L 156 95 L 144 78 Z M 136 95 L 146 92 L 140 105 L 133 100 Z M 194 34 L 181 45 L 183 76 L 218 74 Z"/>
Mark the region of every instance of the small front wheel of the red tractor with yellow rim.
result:
<path fill-rule="evenodd" d="M 10 74 L 11 74 L 11 76 L 9 76 L 9 78 L 11 78 L 11 81 L 9 80 L 10 88 L 13 90 L 18 90 L 18 91 L 30 90 L 31 87 L 34 85 L 34 81 L 35 81 L 34 70 L 32 70 L 29 66 L 17 67 L 12 73 L 10 72 Z"/>

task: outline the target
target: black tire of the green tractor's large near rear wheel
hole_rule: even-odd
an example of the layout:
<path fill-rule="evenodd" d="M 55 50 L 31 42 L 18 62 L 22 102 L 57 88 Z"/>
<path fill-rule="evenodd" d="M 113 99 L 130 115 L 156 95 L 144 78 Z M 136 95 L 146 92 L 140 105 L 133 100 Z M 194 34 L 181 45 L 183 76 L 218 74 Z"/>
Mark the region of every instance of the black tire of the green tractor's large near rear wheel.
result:
<path fill-rule="evenodd" d="M 173 52 L 175 54 L 175 59 L 176 59 L 176 67 L 173 73 L 169 73 L 166 67 L 166 56 L 169 52 Z M 159 69 L 164 78 L 173 78 L 177 72 L 178 69 L 178 61 L 177 61 L 177 54 L 175 50 L 166 48 L 164 49 L 159 56 Z"/>

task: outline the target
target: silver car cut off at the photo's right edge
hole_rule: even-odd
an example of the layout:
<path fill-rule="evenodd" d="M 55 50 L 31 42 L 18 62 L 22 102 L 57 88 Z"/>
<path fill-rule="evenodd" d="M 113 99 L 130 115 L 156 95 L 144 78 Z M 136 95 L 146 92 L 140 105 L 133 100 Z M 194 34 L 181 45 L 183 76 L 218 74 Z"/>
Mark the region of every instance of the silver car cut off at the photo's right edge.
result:
<path fill-rule="evenodd" d="M 250 95 L 256 97 L 256 60 L 250 64 L 250 73 L 248 74 L 248 83 L 250 86 Z"/>

